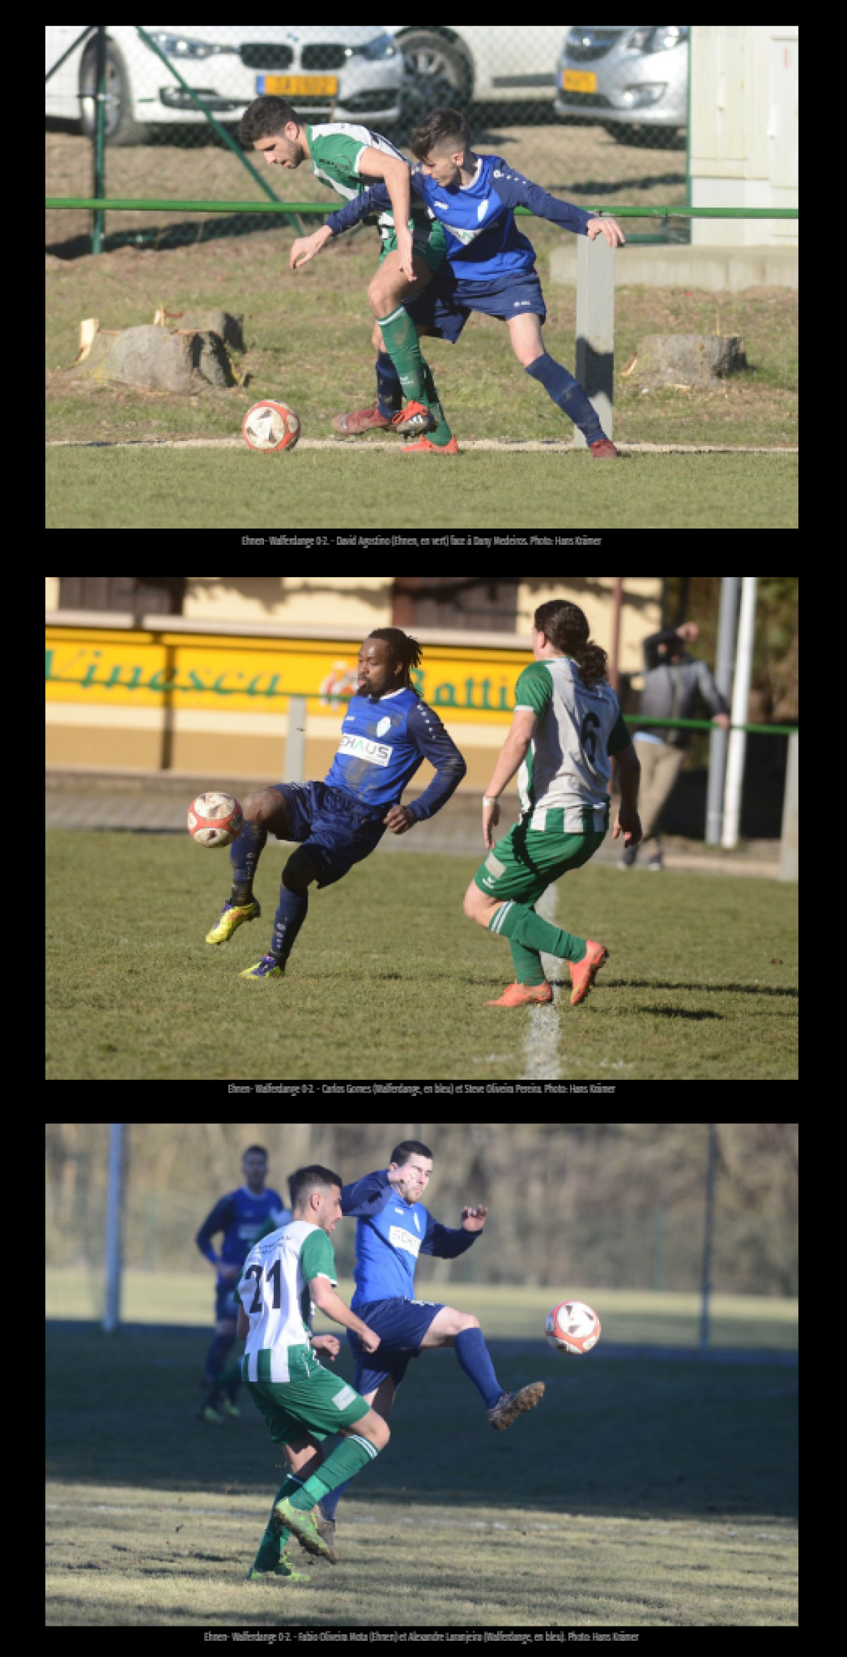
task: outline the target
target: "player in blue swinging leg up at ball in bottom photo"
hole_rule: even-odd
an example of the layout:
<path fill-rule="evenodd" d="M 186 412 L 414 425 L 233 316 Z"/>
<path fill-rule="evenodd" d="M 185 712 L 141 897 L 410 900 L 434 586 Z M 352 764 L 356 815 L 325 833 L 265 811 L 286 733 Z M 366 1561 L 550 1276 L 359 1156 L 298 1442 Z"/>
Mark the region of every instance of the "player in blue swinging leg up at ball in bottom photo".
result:
<path fill-rule="evenodd" d="M 419 1254 L 457 1259 L 473 1246 L 488 1213 L 483 1206 L 463 1208 L 458 1229 L 442 1226 L 420 1201 L 430 1175 L 428 1145 L 402 1140 L 394 1147 L 387 1168 L 341 1188 L 341 1213 L 357 1221 L 351 1311 L 379 1336 L 377 1352 L 369 1354 L 359 1336 L 347 1329 L 356 1354 L 352 1385 L 385 1418 L 410 1360 L 432 1347 L 453 1347 L 488 1410 L 491 1427 L 503 1430 L 541 1402 L 544 1382 L 506 1392 L 495 1375 L 480 1319 L 440 1301 L 415 1299 Z M 336 1506 L 344 1490 L 346 1485 L 337 1485 L 319 1503 L 318 1528 L 331 1544 Z"/>

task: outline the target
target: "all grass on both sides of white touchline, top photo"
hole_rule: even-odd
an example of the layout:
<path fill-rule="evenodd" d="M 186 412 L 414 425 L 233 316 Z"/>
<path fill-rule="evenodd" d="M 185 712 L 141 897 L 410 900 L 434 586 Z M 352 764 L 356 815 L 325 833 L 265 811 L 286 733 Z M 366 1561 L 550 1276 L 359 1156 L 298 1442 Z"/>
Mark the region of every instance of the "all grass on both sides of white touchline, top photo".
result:
<path fill-rule="evenodd" d="M 561 139 L 556 141 L 561 146 Z M 556 149 L 556 167 L 561 164 Z M 556 172 L 551 184 L 561 181 Z M 298 181 L 298 189 L 303 182 Z M 316 191 L 319 187 L 316 186 Z M 179 194 L 179 191 L 177 191 Z M 561 232 L 521 220 L 538 250 L 546 350 L 576 370 L 576 288 L 551 282 Z M 149 254 L 63 260 L 50 268 L 46 437 L 93 447 L 46 451 L 50 529 L 524 530 L 784 529 L 797 524 L 797 297 L 787 288 L 713 295 L 625 287 L 615 295 L 614 437 L 622 444 L 730 446 L 738 452 L 516 452 L 514 441 L 569 442 L 572 424 L 516 363 L 506 330 L 473 315 L 457 346 L 427 340 L 457 457 L 357 449 L 334 441 L 336 414 L 374 399 L 372 316 L 366 298 L 377 257 L 372 232 L 291 275 L 294 230 L 217 239 Z M 202 396 L 81 381 L 71 365 L 81 316 L 103 328 L 149 323 L 162 305 L 245 313 L 246 381 Z M 741 335 L 749 371 L 715 388 L 644 394 L 627 363 L 652 333 Z M 251 403 L 283 398 L 306 442 L 251 454 L 240 442 Z M 228 449 L 132 447 L 170 439 L 230 439 Z M 399 439 L 394 439 L 399 447 Z M 496 441 L 496 452 L 471 449 Z M 98 447 L 104 444 L 104 447 Z M 127 444 L 127 447 L 109 447 Z M 743 452 L 763 446 L 771 452 Z"/>

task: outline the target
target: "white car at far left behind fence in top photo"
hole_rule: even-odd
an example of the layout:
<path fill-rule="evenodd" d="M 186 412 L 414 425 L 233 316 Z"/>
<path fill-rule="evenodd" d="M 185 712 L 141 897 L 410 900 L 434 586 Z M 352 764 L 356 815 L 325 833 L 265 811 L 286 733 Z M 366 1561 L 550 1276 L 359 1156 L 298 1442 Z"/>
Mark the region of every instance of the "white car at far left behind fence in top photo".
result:
<path fill-rule="evenodd" d="M 179 23 L 144 25 L 156 45 L 223 124 L 242 119 L 260 93 L 290 98 L 309 121 L 357 121 L 379 131 L 400 118 L 404 60 L 382 25 Z M 48 25 L 45 73 L 84 25 Z M 94 129 L 94 31 L 46 83 L 46 114 Z M 149 126 L 195 124 L 205 116 L 165 63 L 127 25 L 109 25 L 106 138 L 132 144 Z"/>

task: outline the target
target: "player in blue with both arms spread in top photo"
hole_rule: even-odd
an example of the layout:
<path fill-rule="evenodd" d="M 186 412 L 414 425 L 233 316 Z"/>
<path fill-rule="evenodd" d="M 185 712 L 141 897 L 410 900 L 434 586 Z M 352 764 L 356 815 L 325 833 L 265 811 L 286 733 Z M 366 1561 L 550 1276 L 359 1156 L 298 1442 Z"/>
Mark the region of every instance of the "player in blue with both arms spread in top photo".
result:
<path fill-rule="evenodd" d="M 594 459 L 617 457 L 582 386 L 544 346 L 541 325 L 546 305 L 536 254 L 514 224 L 514 207 L 529 207 L 539 219 L 549 219 L 576 235 L 592 240 L 604 235 L 610 247 L 624 242 L 620 225 L 549 196 L 501 156 L 476 156 L 470 147 L 470 126 L 457 109 L 432 109 L 412 133 L 412 151 L 420 161 L 420 167 L 412 171 L 412 191 L 447 232 L 442 267 L 420 295 L 404 298 L 404 308 L 419 333 L 437 335 L 455 345 L 471 312 L 500 318 L 510 330 L 511 348 L 521 368 L 579 428 Z M 313 258 L 333 235 L 351 229 L 384 202 L 384 186 L 362 191 L 331 214 L 311 237 L 294 242 L 291 260 L 294 255 L 299 263 Z M 379 328 L 374 328 L 374 345 L 382 351 Z M 392 379 L 390 365 L 385 366 L 382 355 L 377 365 L 380 424 L 402 432 L 404 428 L 395 421 L 402 401 L 400 383 Z M 430 447 L 427 434 L 417 442 L 407 442 L 407 449 Z"/>

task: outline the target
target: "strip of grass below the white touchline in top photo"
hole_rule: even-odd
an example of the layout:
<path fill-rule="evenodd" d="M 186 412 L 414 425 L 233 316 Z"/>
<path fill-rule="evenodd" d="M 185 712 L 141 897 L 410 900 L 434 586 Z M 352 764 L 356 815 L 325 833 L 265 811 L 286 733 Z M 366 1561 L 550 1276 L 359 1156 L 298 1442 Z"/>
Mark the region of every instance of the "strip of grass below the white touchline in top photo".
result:
<path fill-rule="evenodd" d="M 48 529 L 792 529 L 797 456 L 83 447 L 46 477 Z"/>

